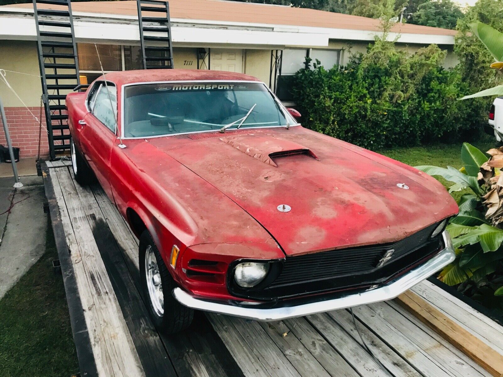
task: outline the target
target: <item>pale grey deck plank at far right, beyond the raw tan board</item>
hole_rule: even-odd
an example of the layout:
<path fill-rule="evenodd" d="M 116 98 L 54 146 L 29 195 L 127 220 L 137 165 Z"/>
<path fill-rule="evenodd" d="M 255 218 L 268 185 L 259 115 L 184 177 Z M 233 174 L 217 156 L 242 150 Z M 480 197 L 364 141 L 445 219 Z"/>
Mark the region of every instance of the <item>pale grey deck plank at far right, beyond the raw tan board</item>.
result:
<path fill-rule="evenodd" d="M 503 326 L 428 280 L 411 291 L 503 355 Z"/>

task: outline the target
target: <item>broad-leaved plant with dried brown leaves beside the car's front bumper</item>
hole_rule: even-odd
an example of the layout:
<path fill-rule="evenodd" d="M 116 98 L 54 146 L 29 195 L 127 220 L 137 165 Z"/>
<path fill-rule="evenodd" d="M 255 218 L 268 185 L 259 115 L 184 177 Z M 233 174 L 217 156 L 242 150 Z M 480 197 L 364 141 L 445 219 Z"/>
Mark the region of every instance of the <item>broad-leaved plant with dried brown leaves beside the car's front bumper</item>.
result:
<path fill-rule="evenodd" d="M 452 182 L 449 192 L 465 190 L 459 214 L 447 231 L 456 249 L 456 260 L 439 278 L 450 286 L 503 313 L 503 147 L 487 151 L 463 143 L 460 170 L 448 166 L 416 166 Z"/>

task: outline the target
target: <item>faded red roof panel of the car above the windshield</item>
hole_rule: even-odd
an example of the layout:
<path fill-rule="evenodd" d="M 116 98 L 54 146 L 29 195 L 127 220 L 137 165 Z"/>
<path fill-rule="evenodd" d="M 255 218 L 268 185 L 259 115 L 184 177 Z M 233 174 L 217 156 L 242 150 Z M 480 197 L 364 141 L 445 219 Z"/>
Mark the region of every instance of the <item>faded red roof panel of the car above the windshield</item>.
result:
<path fill-rule="evenodd" d="M 117 85 L 149 81 L 192 81 L 192 80 L 228 80 L 228 81 L 261 81 L 247 74 L 214 71 L 206 69 L 139 69 L 116 71 L 106 74 L 107 80 Z M 103 80 L 100 76 L 98 80 Z"/>

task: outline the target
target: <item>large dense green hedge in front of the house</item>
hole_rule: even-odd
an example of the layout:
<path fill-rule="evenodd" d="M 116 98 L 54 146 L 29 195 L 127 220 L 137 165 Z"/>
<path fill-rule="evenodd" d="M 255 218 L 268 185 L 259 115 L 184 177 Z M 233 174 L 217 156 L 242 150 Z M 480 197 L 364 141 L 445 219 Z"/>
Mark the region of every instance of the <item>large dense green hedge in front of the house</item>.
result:
<path fill-rule="evenodd" d="M 370 149 L 470 139 L 480 127 L 465 120 L 467 103 L 456 99 L 468 87 L 456 69 L 442 68 L 445 54 L 431 45 L 410 55 L 376 40 L 345 67 L 307 58 L 292 87 L 302 123 Z"/>

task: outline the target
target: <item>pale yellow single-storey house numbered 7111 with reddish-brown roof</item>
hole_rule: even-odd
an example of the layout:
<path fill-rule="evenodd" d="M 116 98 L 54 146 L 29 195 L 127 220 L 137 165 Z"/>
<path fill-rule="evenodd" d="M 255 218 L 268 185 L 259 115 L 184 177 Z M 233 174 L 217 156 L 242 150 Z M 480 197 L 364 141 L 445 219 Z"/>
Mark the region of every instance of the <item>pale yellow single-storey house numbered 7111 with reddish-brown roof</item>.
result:
<path fill-rule="evenodd" d="M 169 3 L 176 68 L 254 75 L 285 103 L 291 102 L 288 76 L 304 66 L 306 56 L 320 60 L 325 67 L 345 64 L 351 53 L 364 52 L 380 32 L 378 20 L 312 9 L 226 0 Z M 136 1 L 78 2 L 71 6 L 81 82 L 90 83 L 101 75 L 100 60 L 105 72 L 142 68 Z M 58 9 L 50 4 L 39 7 Z M 453 66 L 457 63 L 455 33 L 396 24 L 389 38 L 397 38 L 397 44 L 410 52 L 438 44 L 448 52 L 445 65 Z M 36 39 L 33 4 L 0 7 L 0 69 L 5 70 L 21 100 L 2 81 L 0 96 L 13 144 L 21 148 L 22 157 L 35 156 L 38 149 L 35 118 L 40 114 L 42 89 Z M 3 130 L 0 143 L 5 144 Z M 42 136 L 42 155 L 47 154 L 47 148 L 47 138 Z"/>

